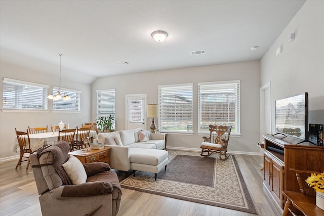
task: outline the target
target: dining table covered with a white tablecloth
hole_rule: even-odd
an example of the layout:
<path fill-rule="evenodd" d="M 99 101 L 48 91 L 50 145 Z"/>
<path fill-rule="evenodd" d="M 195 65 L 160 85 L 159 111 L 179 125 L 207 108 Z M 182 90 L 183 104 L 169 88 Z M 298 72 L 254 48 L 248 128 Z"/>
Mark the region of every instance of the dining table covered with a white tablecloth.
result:
<path fill-rule="evenodd" d="M 36 151 L 37 149 L 39 149 L 43 146 L 54 144 L 58 141 L 58 137 L 59 137 L 59 132 L 29 134 L 31 150 Z M 90 131 L 89 137 L 96 139 L 97 132 Z M 74 139 L 76 139 L 76 133 L 75 133 Z M 17 140 L 17 136 L 16 136 L 14 139 L 13 152 L 19 152 L 19 151 L 20 151 L 20 148 L 19 148 L 19 144 L 18 144 L 18 140 Z"/>

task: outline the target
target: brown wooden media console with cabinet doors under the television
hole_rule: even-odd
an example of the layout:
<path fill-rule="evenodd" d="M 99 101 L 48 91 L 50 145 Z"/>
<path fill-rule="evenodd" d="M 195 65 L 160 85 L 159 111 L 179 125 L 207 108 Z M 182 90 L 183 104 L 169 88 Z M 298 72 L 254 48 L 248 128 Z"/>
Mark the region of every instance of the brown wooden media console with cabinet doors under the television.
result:
<path fill-rule="evenodd" d="M 283 190 L 299 192 L 295 172 L 290 168 L 324 171 L 324 146 L 280 134 L 264 138 L 263 186 L 282 213 L 285 205 Z M 299 143 L 299 144 L 297 144 Z M 315 197 L 315 190 L 307 187 L 306 193 Z"/>

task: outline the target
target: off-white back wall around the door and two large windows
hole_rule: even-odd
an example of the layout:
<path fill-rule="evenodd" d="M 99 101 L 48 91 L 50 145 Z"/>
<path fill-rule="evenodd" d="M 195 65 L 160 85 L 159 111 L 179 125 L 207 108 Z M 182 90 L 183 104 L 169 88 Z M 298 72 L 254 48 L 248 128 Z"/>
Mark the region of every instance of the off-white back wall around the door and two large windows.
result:
<path fill-rule="evenodd" d="M 198 96 L 197 83 L 224 80 L 240 82 L 240 128 L 241 137 L 230 138 L 229 150 L 256 152 L 260 134 L 260 62 L 191 67 L 127 75 L 108 76 L 97 79 L 92 85 L 92 118 L 96 118 L 96 90 L 116 90 L 116 130 L 125 129 L 125 95 L 147 94 L 148 103 L 158 102 L 158 85 L 193 83 L 193 135 L 169 134 L 168 146 L 199 149 L 203 140 L 197 135 Z M 149 123 L 148 123 L 149 127 Z M 148 129 L 148 128 L 147 128 Z"/>

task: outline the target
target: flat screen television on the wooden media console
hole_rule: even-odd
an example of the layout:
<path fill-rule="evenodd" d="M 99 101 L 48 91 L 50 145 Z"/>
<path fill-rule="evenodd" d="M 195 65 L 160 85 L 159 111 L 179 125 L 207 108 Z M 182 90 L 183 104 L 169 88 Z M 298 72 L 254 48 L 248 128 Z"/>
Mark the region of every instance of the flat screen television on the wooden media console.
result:
<path fill-rule="evenodd" d="M 308 141 L 308 93 L 275 101 L 275 132 Z"/>

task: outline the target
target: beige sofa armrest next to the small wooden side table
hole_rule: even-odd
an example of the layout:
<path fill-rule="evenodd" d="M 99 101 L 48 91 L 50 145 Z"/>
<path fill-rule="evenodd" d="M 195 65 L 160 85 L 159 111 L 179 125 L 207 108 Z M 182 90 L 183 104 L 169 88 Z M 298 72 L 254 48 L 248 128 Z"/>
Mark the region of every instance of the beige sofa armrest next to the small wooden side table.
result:
<path fill-rule="evenodd" d="M 110 147 L 110 167 L 121 171 L 131 169 L 130 148 L 128 146 L 105 145 Z"/>

